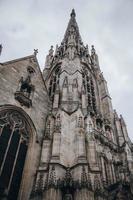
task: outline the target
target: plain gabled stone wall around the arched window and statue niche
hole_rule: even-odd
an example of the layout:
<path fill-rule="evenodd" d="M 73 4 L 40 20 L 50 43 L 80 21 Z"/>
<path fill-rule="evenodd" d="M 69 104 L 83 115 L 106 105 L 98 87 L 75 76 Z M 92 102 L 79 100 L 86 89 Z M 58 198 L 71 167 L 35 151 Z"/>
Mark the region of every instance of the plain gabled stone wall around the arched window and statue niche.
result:
<path fill-rule="evenodd" d="M 27 67 L 29 66 L 35 71 L 31 77 L 31 83 L 35 89 L 32 97 L 32 106 L 28 108 L 15 100 L 15 92 L 19 89 L 21 77 L 26 78 Z M 20 111 L 20 113 L 22 111 L 21 114 L 30 119 L 29 123 L 33 134 L 25 161 L 19 199 L 28 199 L 32 189 L 34 175 L 39 165 L 48 101 L 47 90 L 35 55 L 0 64 L 0 107 L 5 107 L 6 109 L 12 107 Z"/>

